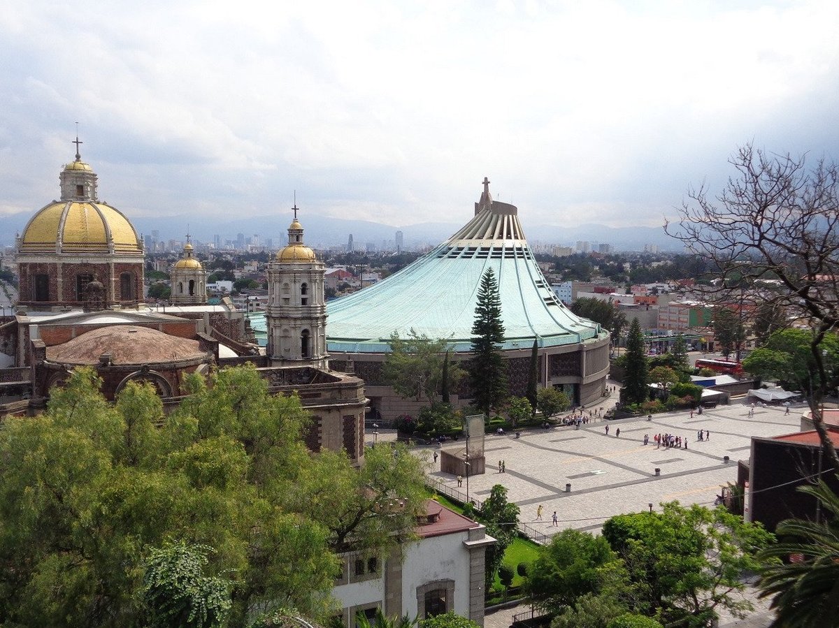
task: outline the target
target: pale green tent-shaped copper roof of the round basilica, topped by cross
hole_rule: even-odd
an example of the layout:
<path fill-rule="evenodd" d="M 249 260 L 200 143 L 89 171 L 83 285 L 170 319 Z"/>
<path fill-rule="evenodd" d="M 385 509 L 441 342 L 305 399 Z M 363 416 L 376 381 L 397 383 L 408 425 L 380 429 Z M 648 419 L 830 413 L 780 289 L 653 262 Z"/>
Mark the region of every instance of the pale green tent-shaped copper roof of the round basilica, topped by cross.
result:
<path fill-rule="evenodd" d="M 446 338 L 468 351 L 478 286 L 487 268 L 498 279 L 504 349 L 570 345 L 605 337 L 556 298 L 524 238 L 518 210 L 493 201 L 488 181 L 475 216 L 449 240 L 383 281 L 326 306 L 330 352 L 388 351 L 393 332 Z"/>

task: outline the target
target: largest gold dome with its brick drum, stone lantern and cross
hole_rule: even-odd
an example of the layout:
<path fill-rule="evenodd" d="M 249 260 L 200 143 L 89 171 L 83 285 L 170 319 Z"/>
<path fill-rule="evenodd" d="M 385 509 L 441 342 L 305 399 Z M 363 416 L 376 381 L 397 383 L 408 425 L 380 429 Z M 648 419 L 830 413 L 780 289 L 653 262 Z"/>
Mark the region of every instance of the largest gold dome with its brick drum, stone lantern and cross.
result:
<path fill-rule="evenodd" d="M 142 302 L 143 242 L 122 212 L 98 200 L 96 174 L 78 148 L 60 174 L 60 189 L 60 200 L 39 210 L 18 236 L 18 303 L 86 305 L 91 282 L 102 283 L 102 307 Z"/>

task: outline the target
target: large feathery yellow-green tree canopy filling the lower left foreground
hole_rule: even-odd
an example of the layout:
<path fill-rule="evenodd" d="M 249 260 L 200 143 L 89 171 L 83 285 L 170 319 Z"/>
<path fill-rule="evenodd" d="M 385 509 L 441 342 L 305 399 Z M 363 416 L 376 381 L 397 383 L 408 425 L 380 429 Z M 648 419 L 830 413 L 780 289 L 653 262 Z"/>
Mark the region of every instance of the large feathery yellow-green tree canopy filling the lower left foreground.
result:
<path fill-rule="evenodd" d="M 232 625 L 256 606 L 322 616 L 342 541 L 384 552 L 413 527 L 420 462 L 383 448 L 357 471 L 346 456 L 312 456 L 300 400 L 268 394 L 253 366 L 189 376 L 169 416 L 150 385 L 129 382 L 110 404 L 100 384 L 78 369 L 44 414 L 0 430 L 0 623 L 146 625 L 147 558 L 157 574 L 183 567 L 154 553 L 166 542 L 214 548 L 207 572 L 235 582 Z M 371 522 L 391 501 L 406 514 Z M 352 522 L 337 527 L 326 503 Z M 154 582 L 149 594 L 169 586 Z"/>

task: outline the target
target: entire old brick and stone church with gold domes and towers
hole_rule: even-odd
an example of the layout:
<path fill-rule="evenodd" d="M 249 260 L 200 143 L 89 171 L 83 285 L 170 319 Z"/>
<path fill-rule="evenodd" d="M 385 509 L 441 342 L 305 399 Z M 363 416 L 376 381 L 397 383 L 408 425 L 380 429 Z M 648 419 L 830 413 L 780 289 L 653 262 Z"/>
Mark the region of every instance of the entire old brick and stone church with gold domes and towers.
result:
<path fill-rule="evenodd" d="M 171 304 L 145 304 L 143 241 L 126 215 L 99 200 L 79 143 L 60 171 L 60 199 L 35 212 L 16 240 L 18 306 L 0 318 L 0 417 L 39 412 L 76 366 L 94 368 L 109 399 L 128 381 L 149 381 L 173 407 L 188 373 L 251 363 L 272 392 L 300 396 L 313 418 L 310 449 L 346 449 L 362 460 L 363 381 L 329 368 L 324 264 L 305 247 L 296 206 L 288 245 L 268 266 L 271 340 L 261 350 L 229 299 L 207 303 L 206 270 L 189 238 L 170 269 Z"/>

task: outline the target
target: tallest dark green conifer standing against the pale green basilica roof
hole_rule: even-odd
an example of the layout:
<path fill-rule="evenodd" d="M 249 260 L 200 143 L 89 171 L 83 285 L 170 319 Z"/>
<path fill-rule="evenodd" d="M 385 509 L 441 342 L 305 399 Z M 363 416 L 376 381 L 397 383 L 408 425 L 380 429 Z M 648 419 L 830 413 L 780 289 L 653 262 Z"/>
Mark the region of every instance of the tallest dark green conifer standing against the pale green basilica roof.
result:
<path fill-rule="evenodd" d="M 501 321 L 501 297 L 495 272 L 487 269 L 481 278 L 472 324 L 472 360 L 469 379 L 475 405 L 488 417 L 508 396 L 507 365 L 501 355 L 504 324 Z"/>

